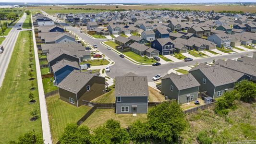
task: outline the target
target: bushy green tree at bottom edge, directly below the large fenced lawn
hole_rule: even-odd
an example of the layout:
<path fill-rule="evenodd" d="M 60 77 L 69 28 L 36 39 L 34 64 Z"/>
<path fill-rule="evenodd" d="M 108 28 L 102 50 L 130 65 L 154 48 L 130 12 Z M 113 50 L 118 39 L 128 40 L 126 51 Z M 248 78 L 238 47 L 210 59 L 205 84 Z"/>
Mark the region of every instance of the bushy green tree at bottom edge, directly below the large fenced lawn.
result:
<path fill-rule="evenodd" d="M 87 126 L 78 126 L 76 123 L 69 123 L 61 134 L 60 143 L 89 144 L 90 129 Z"/>

